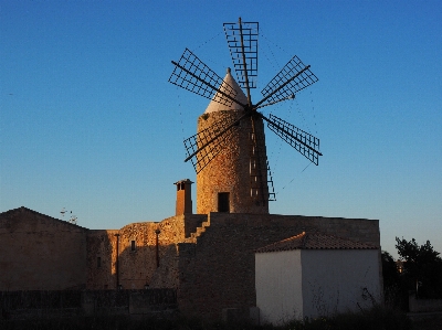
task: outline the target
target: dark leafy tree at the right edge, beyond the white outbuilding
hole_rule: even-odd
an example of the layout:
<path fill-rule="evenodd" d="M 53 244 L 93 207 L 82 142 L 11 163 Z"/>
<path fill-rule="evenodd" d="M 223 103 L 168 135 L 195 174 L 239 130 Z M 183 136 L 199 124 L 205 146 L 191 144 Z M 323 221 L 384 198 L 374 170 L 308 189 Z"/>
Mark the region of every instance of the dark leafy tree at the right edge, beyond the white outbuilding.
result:
<path fill-rule="evenodd" d="M 396 243 L 400 259 L 404 262 L 407 288 L 417 290 L 419 297 L 442 297 L 442 258 L 430 241 L 419 246 L 414 238 L 408 242 L 396 237 Z"/>

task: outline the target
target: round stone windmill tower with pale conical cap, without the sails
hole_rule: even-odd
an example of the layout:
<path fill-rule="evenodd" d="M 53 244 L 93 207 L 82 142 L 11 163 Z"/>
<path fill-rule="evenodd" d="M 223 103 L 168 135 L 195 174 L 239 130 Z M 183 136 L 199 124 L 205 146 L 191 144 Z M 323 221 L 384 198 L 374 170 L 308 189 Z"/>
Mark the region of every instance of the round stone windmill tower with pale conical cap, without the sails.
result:
<path fill-rule="evenodd" d="M 228 68 L 219 92 L 198 118 L 198 134 L 210 130 L 219 121 L 232 123 L 244 115 L 238 103 L 225 106 L 217 102 L 219 94 L 228 89 L 227 86 L 233 87 L 238 102 L 248 103 L 248 97 Z M 255 137 L 260 140 L 256 141 Z M 269 213 L 271 181 L 267 179 L 262 119 L 240 121 L 219 143 L 222 148 L 220 153 L 207 164 L 201 157 L 201 169 L 197 170 L 197 213 Z"/>

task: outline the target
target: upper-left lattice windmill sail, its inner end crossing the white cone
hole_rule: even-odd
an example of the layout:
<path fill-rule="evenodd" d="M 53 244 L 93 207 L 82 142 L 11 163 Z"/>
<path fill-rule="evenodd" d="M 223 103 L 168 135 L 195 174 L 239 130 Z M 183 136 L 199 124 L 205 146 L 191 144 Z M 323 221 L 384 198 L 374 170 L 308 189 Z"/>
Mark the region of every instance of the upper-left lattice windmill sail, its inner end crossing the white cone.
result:
<path fill-rule="evenodd" d="M 169 77 L 169 83 L 209 99 L 212 99 L 215 93 L 219 92 L 219 86 L 223 83 L 223 78 L 188 49 L 182 53 L 178 63 L 173 61 L 172 63 L 175 64 L 175 70 Z M 236 96 L 236 92 L 225 82 L 223 92 L 217 94 L 214 100 L 230 106 Z"/>

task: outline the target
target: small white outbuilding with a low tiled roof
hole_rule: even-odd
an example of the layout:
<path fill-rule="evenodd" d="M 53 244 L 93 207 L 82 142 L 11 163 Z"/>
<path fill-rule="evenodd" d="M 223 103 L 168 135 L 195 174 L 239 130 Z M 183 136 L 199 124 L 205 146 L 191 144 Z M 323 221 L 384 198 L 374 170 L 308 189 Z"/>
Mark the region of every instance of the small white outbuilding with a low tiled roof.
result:
<path fill-rule="evenodd" d="M 380 249 L 305 233 L 255 251 L 260 322 L 283 324 L 370 308 L 380 301 Z"/>

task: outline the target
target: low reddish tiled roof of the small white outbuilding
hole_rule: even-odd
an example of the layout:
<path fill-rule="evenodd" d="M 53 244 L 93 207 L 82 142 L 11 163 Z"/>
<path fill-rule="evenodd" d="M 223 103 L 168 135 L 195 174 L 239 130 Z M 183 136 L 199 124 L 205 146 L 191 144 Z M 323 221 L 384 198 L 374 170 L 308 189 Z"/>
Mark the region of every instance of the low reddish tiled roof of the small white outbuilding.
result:
<path fill-rule="evenodd" d="M 291 249 L 376 249 L 375 245 L 323 233 L 306 233 L 266 245 L 256 253 Z"/>

